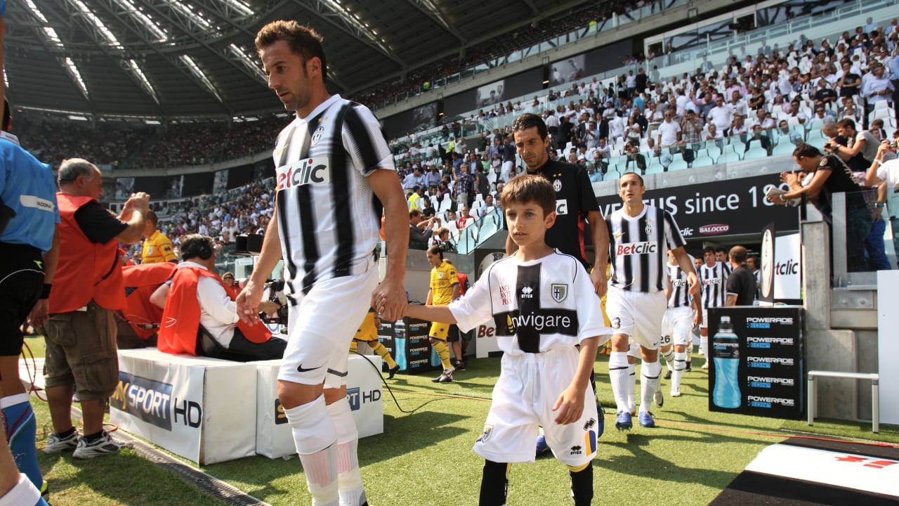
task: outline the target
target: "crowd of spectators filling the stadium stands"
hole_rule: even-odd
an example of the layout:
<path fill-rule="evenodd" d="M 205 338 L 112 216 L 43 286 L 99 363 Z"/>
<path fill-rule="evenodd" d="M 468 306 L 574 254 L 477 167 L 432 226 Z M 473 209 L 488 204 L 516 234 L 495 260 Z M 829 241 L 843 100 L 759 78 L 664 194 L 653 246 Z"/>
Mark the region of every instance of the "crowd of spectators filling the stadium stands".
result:
<path fill-rule="evenodd" d="M 742 59 L 732 56 L 722 68 L 706 62 L 692 73 L 663 78 L 637 67 L 614 86 L 583 80 L 544 99 L 535 96 L 527 104 L 495 104 L 444 125 L 432 140 L 395 139 L 391 146 L 398 176 L 410 210 L 441 220 L 432 221 L 431 245 L 443 242 L 442 228 L 453 236 L 464 228 L 457 216 L 463 207 L 472 218 L 481 218 L 492 206 L 485 205 L 488 195 L 495 197 L 497 185 L 515 175 L 511 127 L 495 125 L 503 117 L 509 120 L 504 123 L 511 123 L 523 112 L 542 113 L 555 148 L 550 156 L 583 165 L 593 182 L 615 167 L 615 158 L 626 159 L 628 169 L 645 172 L 658 163 L 667 170 L 676 158 L 690 166 L 699 157 L 717 157 L 728 149 L 740 155 L 762 149 L 767 156 L 788 143 L 791 151 L 810 134 L 819 147 L 848 145 L 851 156 L 858 157 L 851 165 L 868 167 L 877 144 L 892 139 L 895 131 L 899 60 L 892 55 L 897 37 L 899 23 L 894 19 L 886 28 L 859 26 L 833 42 L 801 38 L 786 49 L 762 48 Z M 855 126 L 840 123 L 845 119 Z M 218 152 L 233 156 L 264 150 L 282 122 L 272 118 L 232 125 L 230 130 L 213 127 L 199 136 L 187 134 L 190 125 L 170 128 L 159 143 L 165 150 L 151 149 L 155 154 L 141 157 L 140 163 L 156 159 L 158 166 L 158 160 L 165 159 L 183 164 L 185 157 L 198 152 L 202 139 L 217 139 L 213 143 Z M 244 133 L 247 128 L 250 133 Z M 255 144 L 247 139 L 255 139 Z M 865 139 L 868 149 L 852 149 Z M 243 151 L 232 149 L 238 144 Z M 259 181 L 225 194 L 164 203 L 158 211 L 162 230 L 176 244 L 183 234 L 200 232 L 224 245 L 238 233 L 264 229 L 271 206 L 271 182 Z"/>

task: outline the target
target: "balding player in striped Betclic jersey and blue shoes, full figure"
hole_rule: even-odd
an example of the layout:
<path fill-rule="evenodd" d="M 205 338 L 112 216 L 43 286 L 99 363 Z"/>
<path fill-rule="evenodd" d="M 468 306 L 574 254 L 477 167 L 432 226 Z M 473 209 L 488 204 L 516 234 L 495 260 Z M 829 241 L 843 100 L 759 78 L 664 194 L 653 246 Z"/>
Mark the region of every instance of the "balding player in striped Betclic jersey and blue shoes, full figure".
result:
<path fill-rule="evenodd" d="M 699 282 L 690 256 L 684 251 L 681 230 L 670 212 L 643 203 L 643 178 L 631 172 L 619 180 L 619 196 L 624 206 L 606 218 L 612 275 L 606 314 L 612 324 L 612 353 L 609 379 L 618 404 L 615 427 L 631 429 L 628 408 L 628 347 L 640 345 L 643 358 L 640 380 L 640 425 L 655 427 L 649 405 L 659 383 L 659 336 L 665 312 L 667 286 L 666 249 L 671 249 L 678 265 L 687 273 L 690 293 Z"/>

